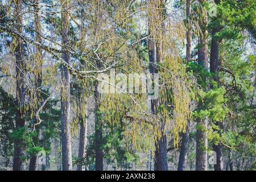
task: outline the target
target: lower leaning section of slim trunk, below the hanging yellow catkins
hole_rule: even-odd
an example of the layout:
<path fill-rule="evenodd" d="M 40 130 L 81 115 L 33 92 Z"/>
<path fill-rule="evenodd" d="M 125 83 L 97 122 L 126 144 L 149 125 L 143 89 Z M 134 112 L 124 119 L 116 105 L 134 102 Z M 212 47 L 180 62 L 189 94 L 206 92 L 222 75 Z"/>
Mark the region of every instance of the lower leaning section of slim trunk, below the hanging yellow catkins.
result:
<path fill-rule="evenodd" d="M 185 165 L 187 163 L 188 157 L 188 148 L 189 148 L 189 122 L 187 124 L 185 133 L 182 135 L 181 138 L 181 147 L 180 147 L 180 156 L 179 156 L 179 163 L 178 163 L 178 171 L 185 171 Z"/>

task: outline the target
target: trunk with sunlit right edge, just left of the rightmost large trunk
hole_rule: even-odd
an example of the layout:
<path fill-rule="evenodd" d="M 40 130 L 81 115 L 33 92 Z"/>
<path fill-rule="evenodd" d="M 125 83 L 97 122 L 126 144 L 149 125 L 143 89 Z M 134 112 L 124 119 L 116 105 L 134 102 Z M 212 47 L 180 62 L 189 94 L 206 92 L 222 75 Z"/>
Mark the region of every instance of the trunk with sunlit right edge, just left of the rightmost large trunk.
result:
<path fill-rule="evenodd" d="M 208 71 L 208 31 L 207 31 L 207 10 L 205 9 L 203 3 L 205 0 L 199 1 L 202 5 L 200 8 L 200 35 L 199 35 L 199 46 L 198 46 L 198 61 L 206 71 Z M 208 88 L 206 88 L 208 90 Z M 197 123 L 197 134 L 196 134 L 196 171 L 207 171 L 208 170 L 208 139 L 207 139 L 207 129 L 208 129 L 208 118 L 201 119 Z"/>

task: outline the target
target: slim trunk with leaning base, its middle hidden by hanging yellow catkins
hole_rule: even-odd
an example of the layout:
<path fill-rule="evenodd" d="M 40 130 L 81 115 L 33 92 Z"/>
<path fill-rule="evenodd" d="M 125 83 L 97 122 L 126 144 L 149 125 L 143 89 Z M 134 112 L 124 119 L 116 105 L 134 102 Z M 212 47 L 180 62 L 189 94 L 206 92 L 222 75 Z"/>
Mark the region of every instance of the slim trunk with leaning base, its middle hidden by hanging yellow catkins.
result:
<path fill-rule="evenodd" d="M 186 3 L 186 16 L 187 16 L 186 60 L 187 62 L 191 61 L 191 52 L 192 52 L 192 48 L 191 48 L 192 31 L 191 31 L 190 14 L 191 14 L 191 0 L 187 0 L 187 3 Z M 187 123 L 185 133 L 182 134 L 179 164 L 177 168 L 178 171 L 185 170 L 185 164 L 187 163 L 188 147 L 189 147 L 189 121 Z"/>

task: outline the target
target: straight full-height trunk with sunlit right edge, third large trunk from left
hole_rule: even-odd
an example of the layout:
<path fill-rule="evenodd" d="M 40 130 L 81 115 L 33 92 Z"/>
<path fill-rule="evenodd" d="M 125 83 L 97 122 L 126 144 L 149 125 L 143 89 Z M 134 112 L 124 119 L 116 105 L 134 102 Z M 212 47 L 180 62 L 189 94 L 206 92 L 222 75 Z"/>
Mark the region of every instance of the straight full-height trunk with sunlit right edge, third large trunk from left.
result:
<path fill-rule="evenodd" d="M 61 37 L 63 45 L 69 44 L 69 1 L 61 0 Z M 62 59 L 70 64 L 70 54 L 62 53 Z M 61 151 L 63 171 L 72 170 L 72 151 L 70 134 L 70 80 L 71 75 L 65 65 L 61 66 Z"/>

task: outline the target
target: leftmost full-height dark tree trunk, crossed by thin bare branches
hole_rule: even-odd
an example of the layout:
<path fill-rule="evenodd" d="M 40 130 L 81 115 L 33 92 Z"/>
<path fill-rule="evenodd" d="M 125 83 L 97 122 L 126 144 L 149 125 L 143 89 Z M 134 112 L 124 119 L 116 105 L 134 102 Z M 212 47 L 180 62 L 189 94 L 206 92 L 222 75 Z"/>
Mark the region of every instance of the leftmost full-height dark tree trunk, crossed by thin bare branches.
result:
<path fill-rule="evenodd" d="M 22 0 L 15 0 L 16 23 L 19 24 L 17 29 L 22 32 Z M 15 115 L 15 130 L 22 130 L 25 125 L 24 104 L 25 104 L 25 85 L 24 85 L 24 60 L 23 60 L 23 43 L 21 38 L 16 39 L 15 64 L 16 64 L 16 104 L 18 109 Z M 22 170 L 23 139 L 15 138 L 14 140 L 14 158 L 13 170 Z"/>

